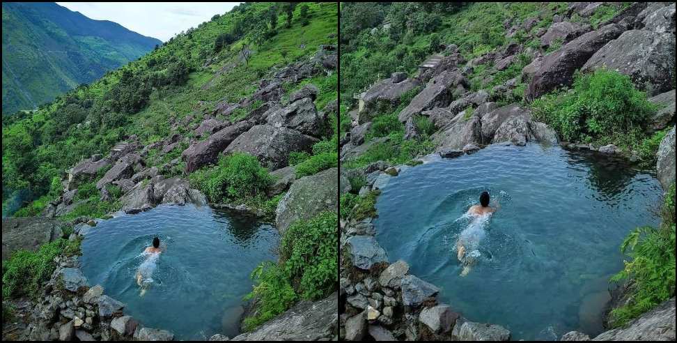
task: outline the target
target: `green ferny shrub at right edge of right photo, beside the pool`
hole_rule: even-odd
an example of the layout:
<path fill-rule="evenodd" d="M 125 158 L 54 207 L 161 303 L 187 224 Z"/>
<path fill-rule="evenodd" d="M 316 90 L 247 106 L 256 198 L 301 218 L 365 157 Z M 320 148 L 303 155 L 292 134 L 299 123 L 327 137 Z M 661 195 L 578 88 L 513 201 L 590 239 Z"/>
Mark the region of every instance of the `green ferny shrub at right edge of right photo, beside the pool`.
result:
<path fill-rule="evenodd" d="M 632 261 L 612 277 L 612 281 L 632 280 L 630 302 L 611 312 L 611 322 L 619 327 L 656 305 L 675 296 L 675 185 L 662 204 L 660 227 L 638 227 L 621 245 Z"/>

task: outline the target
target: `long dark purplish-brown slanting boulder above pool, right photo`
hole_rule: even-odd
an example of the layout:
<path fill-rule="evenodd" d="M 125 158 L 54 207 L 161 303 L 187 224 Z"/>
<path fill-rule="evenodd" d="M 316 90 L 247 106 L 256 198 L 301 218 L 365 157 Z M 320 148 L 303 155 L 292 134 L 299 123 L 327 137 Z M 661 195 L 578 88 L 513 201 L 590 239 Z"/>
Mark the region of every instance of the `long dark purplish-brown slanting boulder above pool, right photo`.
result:
<path fill-rule="evenodd" d="M 534 73 L 526 90 L 527 99 L 534 100 L 559 86 L 570 85 L 575 70 L 581 68 L 610 40 L 621 36 L 622 31 L 620 25 L 609 24 L 596 31 L 585 33 L 566 43 L 556 52 L 544 56 L 540 68 Z"/>

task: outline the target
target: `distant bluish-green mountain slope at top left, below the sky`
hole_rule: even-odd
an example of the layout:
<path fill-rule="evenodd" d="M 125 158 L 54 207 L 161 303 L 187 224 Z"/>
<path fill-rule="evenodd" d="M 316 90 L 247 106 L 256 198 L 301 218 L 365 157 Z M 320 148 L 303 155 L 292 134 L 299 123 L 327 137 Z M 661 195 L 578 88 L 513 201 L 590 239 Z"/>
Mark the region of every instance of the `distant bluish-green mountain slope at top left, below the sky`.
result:
<path fill-rule="evenodd" d="M 3 3 L 2 113 L 33 109 L 159 44 L 56 3 Z"/>

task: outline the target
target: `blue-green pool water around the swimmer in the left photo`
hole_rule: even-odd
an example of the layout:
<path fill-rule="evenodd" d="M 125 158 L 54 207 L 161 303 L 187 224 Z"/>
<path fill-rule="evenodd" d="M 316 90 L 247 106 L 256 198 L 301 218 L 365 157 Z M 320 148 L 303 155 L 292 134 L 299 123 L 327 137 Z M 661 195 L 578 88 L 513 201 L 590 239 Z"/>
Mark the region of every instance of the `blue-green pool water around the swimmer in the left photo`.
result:
<path fill-rule="evenodd" d="M 152 278 L 139 296 L 134 279 L 141 254 L 158 236 L 166 251 L 146 262 Z M 127 305 L 143 326 L 171 330 L 177 340 L 238 333 L 249 273 L 275 259 L 277 230 L 209 207 L 158 206 L 100 222 L 82 242 L 82 271 L 89 283 Z"/>

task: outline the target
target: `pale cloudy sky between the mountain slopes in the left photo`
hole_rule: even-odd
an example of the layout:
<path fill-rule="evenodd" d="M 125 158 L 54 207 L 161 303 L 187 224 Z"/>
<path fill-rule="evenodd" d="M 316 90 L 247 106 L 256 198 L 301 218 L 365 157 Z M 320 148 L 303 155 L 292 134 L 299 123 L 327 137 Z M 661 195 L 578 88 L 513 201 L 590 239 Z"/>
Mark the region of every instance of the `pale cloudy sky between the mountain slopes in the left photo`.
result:
<path fill-rule="evenodd" d="M 125 28 L 162 40 L 174 34 L 197 27 L 212 19 L 215 14 L 224 14 L 239 2 L 57 2 L 60 6 L 75 10 L 95 20 L 110 20 Z"/>

